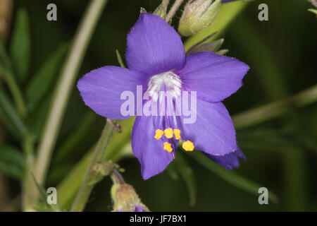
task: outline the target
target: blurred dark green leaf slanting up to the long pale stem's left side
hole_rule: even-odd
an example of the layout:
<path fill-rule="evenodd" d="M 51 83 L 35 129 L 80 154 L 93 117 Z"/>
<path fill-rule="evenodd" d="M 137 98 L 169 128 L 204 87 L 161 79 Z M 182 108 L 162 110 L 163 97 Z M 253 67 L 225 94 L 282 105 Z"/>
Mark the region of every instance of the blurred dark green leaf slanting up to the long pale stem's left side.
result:
<path fill-rule="evenodd" d="M 43 66 L 35 73 L 30 83 L 27 84 L 25 93 L 27 97 L 27 106 L 32 111 L 37 107 L 42 97 L 48 92 L 51 84 L 58 78 L 63 57 L 66 54 L 68 44 L 62 44 L 49 56 Z"/>

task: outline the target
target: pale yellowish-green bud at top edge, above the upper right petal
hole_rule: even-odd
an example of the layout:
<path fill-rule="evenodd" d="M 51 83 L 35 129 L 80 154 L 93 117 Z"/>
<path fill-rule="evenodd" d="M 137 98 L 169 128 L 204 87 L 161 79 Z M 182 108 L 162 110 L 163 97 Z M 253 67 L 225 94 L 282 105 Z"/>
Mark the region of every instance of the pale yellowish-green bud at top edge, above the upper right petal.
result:
<path fill-rule="evenodd" d="M 190 36 L 207 28 L 216 18 L 220 6 L 221 0 L 189 0 L 180 18 L 178 32 Z"/>

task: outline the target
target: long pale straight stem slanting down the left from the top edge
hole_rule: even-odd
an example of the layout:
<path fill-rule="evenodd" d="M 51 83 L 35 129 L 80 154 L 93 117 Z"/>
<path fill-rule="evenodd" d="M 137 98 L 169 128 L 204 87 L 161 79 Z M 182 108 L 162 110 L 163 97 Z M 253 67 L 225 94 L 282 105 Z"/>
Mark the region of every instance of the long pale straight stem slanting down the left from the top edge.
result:
<path fill-rule="evenodd" d="M 106 5 L 107 0 L 94 0 L 89 2 L 87 11 L 82 18 L 82 21 L 75 34 L 73 45 L 70 48 L 68 57 L 63 64 L 61 78 L 56 86 L 54 100 L 51 105 L 49 117 L 46 120 L 44 133 L 37 152 L 35 162 L 35 179 L 39 185 L 43 185 L 46 177 L 46 172 L 49 167 L 49 161 L 54 149 L 58 131 L 61 127 L 66 105 L 70 97 L 70 91 L 75 83 L 77 72 L 80 69 L 82 59 L 85 55 L 89 40 L 92 37 L 94 28 L 97 25 L 101 12 Z M 34 183 L 33 183 L 34 184 Z M 34 184 L 35 186 L 35 184 Z M 37 198 L 37 189 L 32 189 L 34 194 L 32 198 Z"/>

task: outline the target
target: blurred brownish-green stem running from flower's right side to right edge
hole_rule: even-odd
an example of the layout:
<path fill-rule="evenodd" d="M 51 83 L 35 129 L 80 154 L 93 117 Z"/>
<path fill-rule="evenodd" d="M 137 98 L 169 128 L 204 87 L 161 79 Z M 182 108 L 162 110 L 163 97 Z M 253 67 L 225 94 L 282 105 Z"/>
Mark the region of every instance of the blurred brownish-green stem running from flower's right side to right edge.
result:
<path fill-rule="evenodd" d="M 262 107 L 247 110 L 240 114 L 235 114 L 232 120 L 236 129 L 242 129 L 247 126 L 259 124 L 268 119 L 273 119 L 285 114 L 290 109 L 303 107 L 317 101 L 317 85 L 292 95 L 284 100 L 273 102 Z"/>

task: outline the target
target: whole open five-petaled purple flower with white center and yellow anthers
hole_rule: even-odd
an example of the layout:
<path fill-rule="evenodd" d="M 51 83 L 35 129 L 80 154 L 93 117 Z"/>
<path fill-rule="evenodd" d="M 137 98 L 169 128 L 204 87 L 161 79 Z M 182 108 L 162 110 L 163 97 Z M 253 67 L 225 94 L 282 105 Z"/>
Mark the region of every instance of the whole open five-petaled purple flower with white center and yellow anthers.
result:
<path fill-rule="evenodd" d="M 180 140 L 184 141 L 185 150 L 200 150 L 228 169 L 239 165 L 237 159 L 244 155 L 237 148 L 232 119 L 221 101 L 242 86 L 249 66 L 212 52 L 185 57 L 177 32 L 159 16 L 149 13 L 142 13 L 132 27 L 125 59 L 128 69 L 104 66 L 78 82 L 85 104 L 97 114 L 110 119 L 131 117 L 122 114 L 126 101 L 121 100 L 122 93 L 128 90 L 137 96 L 137 85 L 142 87 L 142 93 L 149 94 L 149 99 L 143 100 L 141 106 L 135 102 L 134 113 L 153 103 L 177 110 L 175 100 L 181 99 L 182 93 L 197 96 L 197 100 L 193 99 L 196 102 L 187 106 L 196 116 L 192 123 L 185 122 L 187 115 L 175 112 L 163 116 L 137 114 L 131 141 L 144 179 L 166 169 L 175 158 Z M 170 92 L 173 102 L 159 98 L 161 91 Z"/>

